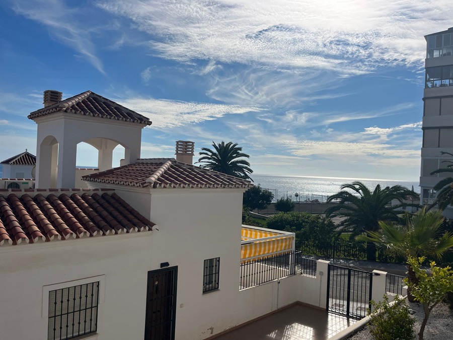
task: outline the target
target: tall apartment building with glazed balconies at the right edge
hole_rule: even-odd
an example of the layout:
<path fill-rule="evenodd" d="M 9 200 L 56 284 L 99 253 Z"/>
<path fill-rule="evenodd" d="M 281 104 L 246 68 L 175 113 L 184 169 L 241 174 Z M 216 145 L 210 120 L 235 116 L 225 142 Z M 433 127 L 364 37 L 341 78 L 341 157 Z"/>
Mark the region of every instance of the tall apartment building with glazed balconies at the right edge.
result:
<path fill-rule="evenodd" d="M 426 39 L 425 89 L 423 92 L 423 145 L 420 188 L 425 204 L 435 198 L 433 186 L 451 173 L 430 175 L 444 167 L 441 151 L 453 153 L 453 27 L 428 34 Z M 452 215 L 446 211 L 445 215 Z"/>

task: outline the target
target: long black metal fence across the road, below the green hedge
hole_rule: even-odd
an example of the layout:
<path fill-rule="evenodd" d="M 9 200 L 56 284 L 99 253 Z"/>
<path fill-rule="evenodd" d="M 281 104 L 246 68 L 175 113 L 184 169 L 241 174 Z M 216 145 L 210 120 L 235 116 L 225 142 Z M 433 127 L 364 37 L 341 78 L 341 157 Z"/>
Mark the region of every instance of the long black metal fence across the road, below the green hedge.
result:
<path fill-rule="evenodd" d="M 333 260 L 335 258 L 370 260 L 369 246 L 365 242 L 303 241 L 299 243 L 297 250 L 304 255 L 327 257 Z M 377 248 L 373 251 L 375 254 L 371 260 L 385 263 L 405 263 L 404 256 L 393 254 L 386 249 Z"/>

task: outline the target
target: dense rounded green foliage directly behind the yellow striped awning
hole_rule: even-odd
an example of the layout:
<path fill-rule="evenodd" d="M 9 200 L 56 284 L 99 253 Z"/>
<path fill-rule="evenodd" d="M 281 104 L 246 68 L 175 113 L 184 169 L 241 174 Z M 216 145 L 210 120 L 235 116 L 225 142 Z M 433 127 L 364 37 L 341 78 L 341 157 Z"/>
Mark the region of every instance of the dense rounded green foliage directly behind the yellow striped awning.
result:
<path fill-rule="evenodd" d="M 296 247 L 303 241 L 331 241 L 336 234 L 336 226 L 331 219 L 310 213 L 280 213 L 268 219 L 266 226 L 295 233 Z"/>

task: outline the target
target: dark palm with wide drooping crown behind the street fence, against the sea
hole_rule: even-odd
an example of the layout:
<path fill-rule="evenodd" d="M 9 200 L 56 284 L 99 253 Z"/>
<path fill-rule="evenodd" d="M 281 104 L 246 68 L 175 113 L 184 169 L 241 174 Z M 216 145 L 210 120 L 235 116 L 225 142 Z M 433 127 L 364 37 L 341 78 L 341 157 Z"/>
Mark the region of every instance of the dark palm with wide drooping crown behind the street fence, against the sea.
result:
<path fill-rule="evenodd" d="M 378 231 L 379 221 L 398 221 L 398 215 L 403 210 L 401 207 L 419 207 L 413 203 L 405 203 L 407 197 L 417 196 L 417 194 L 401 185 L 381 188 L 378 184 L 371 191 L 365 184 L 355 181 L 350 184 L 343 184 L 341 191 L 330 196 L 328 203 L 338 201 L 338 204 L 327 208 L 326 217 L 345 217 L 340 222 L 343 230 L 352 232 L 351 236 L 356 236 L 366 231 Z M 396 205 L 392 205 L 392 200 L 397 200 Z M 376 249 L 374 243 L 368 242 L 367 259 L 375 260 Z"/>

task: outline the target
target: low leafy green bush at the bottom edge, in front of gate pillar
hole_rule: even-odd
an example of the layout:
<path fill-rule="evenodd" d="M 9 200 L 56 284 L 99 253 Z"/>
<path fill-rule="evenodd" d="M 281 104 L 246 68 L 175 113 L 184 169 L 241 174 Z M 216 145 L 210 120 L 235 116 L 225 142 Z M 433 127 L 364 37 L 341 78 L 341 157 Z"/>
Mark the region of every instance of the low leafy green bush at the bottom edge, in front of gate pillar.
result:
<path fill-rule="evenodd" d="M 384 301 L 371 301 L 374 311 L 368 310 L 371 317 L 369 331 L 375 340 L 412 340 L 414 338 L 415 319 L 409 313 L 406 300 L 395 297 L 395 304 L 389 305 L 387 294 Z"/>

